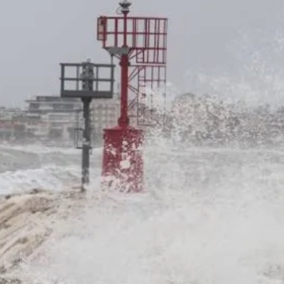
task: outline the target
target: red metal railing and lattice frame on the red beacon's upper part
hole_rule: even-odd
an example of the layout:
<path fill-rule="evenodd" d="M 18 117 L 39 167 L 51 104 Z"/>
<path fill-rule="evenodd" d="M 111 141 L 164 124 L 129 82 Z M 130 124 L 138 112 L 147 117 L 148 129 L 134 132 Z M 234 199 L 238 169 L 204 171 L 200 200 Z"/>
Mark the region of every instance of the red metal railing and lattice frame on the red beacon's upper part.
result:
<path fill-rule="evenodd" d="M 136 108 L 138 124 L 155 124 L 154 120 L 146 123 L 143 119 L 146 116 L 145 101 L 148 102 L 149 116 L 149 111 L 153 114 L 155 110 L 153 98 L 158 96 L 155 91 L 165 94 L 167 32 L 168 18 L 101 16 L 97 19 L 97 40 L 102 41 L 103 48 L 122 48 L 126 43 L 129 61 L 135 62 L 129 66 L 128 108 Z M 121 59 L 119 55 L 114 56 Z M 146 94 L 145 89 L 152 91 Z M 160 102 L 165 109 L 165 95 Z"/>

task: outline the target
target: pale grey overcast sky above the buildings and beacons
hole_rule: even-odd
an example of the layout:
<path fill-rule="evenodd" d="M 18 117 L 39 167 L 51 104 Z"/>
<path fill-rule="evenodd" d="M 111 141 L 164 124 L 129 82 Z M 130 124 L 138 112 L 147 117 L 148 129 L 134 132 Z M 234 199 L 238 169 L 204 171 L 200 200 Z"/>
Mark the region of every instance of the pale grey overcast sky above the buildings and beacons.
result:
<path fill-rule="evenodd" d="M 283 0 L 132 2 L 133 15 L 169 18 L 168 81 L 178 92 L 265 89 L 256 100 L 284 97 Z M 117 7 L 117 0 L 1 1 L 0 105 L 59 94 L 60 62 L 109 62 L 96 18 Z"/>

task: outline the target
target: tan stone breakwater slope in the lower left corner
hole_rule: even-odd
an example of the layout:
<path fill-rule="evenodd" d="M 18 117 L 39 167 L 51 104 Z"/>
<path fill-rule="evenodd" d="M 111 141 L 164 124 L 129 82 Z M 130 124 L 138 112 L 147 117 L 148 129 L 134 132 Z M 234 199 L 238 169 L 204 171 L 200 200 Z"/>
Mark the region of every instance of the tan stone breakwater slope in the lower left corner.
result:
<path fill-rule="evenodd" d="M 21 264 L 40 257 L 40 247 L 56 234 L 59 223 L 76 214 L 80 200 L 82 195 L 72 190 L 0 197 L 0 284 L 30 281 L 25 280 Z"/>

